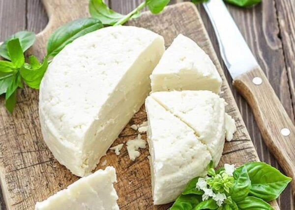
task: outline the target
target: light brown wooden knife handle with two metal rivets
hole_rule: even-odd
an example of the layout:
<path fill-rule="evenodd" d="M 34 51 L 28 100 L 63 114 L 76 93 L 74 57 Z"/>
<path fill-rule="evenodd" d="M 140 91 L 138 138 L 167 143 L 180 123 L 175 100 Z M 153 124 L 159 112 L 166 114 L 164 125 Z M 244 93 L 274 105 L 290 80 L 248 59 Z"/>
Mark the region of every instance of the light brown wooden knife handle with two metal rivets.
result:
<path fill-rule="evenodd" d="M 285 173 L 292 177 L 295 197 L 295 126 L 258 67 L 234 80 L 234 86 L 251 106 L 263 139 Z"/>

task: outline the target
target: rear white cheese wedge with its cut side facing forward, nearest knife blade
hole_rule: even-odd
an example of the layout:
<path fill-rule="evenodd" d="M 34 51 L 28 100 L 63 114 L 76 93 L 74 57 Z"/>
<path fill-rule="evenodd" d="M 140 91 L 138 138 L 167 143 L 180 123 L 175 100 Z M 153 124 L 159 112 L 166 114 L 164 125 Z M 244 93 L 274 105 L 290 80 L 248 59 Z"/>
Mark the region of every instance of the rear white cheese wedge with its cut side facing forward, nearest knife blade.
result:
<path fill-rule="evenodd" d="M 222 80 L 209 56 L 192 39 L 178 35 L 150 75 L 151 89 L 220 92 Z"/>

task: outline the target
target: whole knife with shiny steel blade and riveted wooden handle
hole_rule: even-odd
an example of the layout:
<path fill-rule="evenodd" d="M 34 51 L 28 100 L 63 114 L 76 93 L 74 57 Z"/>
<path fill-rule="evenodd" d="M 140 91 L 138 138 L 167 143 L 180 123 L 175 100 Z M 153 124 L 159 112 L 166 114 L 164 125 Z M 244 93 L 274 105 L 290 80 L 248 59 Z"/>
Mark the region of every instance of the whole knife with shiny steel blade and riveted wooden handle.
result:
<path fill-rule="evenodd" d="M 263 139 L 283 170 L 293 178 L 295 197 L 295 126 L 222 0 L 203 3 L 234 87 L 251 106 Z"/>

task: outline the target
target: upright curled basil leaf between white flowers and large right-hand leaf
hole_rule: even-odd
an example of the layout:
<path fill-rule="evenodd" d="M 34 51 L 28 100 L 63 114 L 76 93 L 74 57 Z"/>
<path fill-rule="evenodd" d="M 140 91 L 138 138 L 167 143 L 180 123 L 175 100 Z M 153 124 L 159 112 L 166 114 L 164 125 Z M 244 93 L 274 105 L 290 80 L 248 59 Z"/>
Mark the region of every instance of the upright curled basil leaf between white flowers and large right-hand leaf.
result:
<path fill-rule="evenodd" d="M 251 181 L 245 166 L 240 167 L 234 172 L 235 185 L 231 189 L 231 197 L 233 201 L 241 201 L 245 199 L 251 189 Z"/>

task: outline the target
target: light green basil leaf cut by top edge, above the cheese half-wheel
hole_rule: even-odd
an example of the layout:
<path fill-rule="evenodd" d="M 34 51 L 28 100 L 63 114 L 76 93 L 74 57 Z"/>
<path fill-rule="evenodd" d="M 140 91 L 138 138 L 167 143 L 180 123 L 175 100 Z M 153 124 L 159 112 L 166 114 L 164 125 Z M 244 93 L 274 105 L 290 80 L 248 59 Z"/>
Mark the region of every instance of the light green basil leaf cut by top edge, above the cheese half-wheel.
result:
<path fill-rule="evenodd" d="M 104 0 L 90 0 L 89 13 L 91 17 L 99 19 L 104 25 L 114 25 L 124 17 L 124 15 L 110 9 Z"/>

